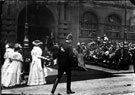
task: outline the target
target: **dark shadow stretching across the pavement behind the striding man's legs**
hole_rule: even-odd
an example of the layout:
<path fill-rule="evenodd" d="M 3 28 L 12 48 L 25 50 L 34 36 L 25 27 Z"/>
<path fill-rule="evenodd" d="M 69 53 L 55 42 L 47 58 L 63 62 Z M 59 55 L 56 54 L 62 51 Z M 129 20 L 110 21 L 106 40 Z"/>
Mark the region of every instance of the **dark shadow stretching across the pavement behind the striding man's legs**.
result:
<path fill-rule="evenodd" d="M 53 69 L 57 69 L 57 66 L 51 67 Z M 102 79 L 102 78 L 111 78 L 111 77 L 120 77 L 120 75 L 114 75 L 112 73 L 100 71 L 100 70 L 95 70 L 95 69 L 90 69 L 87 68 L 88 71 L 84 71 L 83 69 L 74 69 L 72 71 L 72 82 L 74 81 L 85 81 L 85 80 L 93 80 L 93 79 Z M 52 72 L 54 73 L 54 72 Z M 46 77 L 47 84 L 53 84 L 55 78 L 57 77 L 57 74 L 49 75 Z M 60 83 L 66 82 L 66 75 L 64 74 L 63 77 L 60 80 Z M 46 84 L 46 85 L 47 85 Z M 22 87 L 29 87 L 26 84 L 19 85 L 19 86 L 14 86 L 14 87 L 8 87 L 4 89 L 14 89 L 14 88 L 22 88 Z"/>

